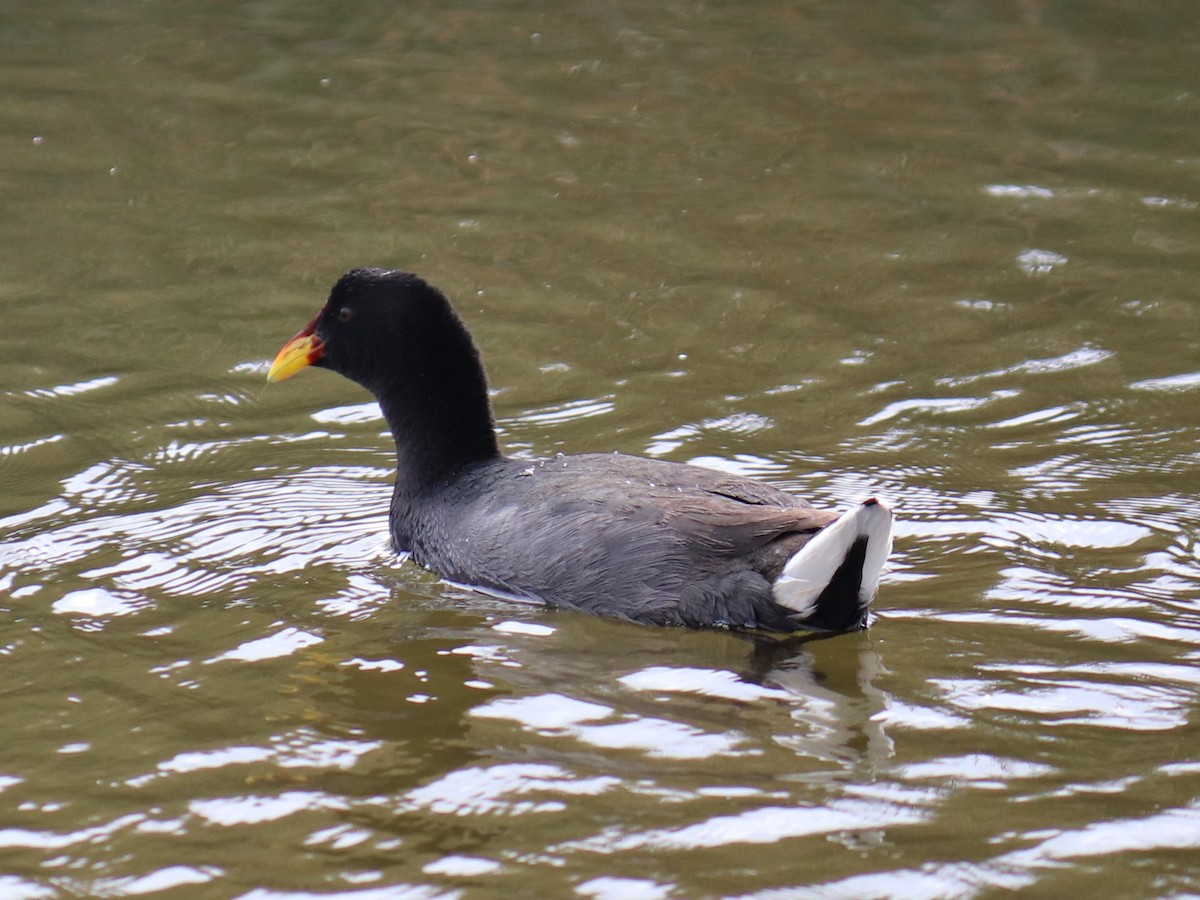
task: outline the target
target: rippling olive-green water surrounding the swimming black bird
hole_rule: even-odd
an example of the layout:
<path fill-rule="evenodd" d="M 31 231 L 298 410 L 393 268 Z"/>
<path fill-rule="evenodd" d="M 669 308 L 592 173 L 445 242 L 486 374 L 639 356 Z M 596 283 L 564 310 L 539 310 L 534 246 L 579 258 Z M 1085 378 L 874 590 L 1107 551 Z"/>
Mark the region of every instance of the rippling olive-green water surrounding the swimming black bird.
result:
<path fill-rule="evenodd" d="M 1200 892 L 1192 6 L 0 10 L 0 895 Z M 385 542 L 422 274 L 511 452 L 877 494 L 863 635 Z"/>

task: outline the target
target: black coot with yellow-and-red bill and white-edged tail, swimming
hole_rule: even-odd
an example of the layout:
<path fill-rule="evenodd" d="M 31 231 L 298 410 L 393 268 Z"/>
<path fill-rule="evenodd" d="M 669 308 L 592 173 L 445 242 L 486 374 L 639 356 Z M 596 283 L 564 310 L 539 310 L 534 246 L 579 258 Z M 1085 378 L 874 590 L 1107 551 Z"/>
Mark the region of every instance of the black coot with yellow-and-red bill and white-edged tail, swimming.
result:
<path fill-rule="evenodd" d="M 479 352 L 414 275 L 359 269 L 280 350 L 268 380 L 331 368 L 396 440 L 391 536 L 445 578 L 672 625 L 866 626 L 892 512 L 838 516 L 769 485 L 622 455 L 500 455 Z"/>

